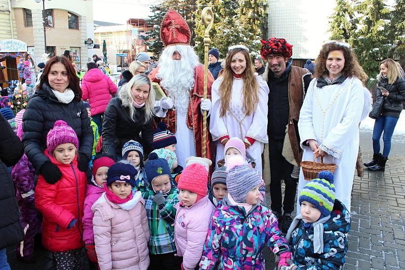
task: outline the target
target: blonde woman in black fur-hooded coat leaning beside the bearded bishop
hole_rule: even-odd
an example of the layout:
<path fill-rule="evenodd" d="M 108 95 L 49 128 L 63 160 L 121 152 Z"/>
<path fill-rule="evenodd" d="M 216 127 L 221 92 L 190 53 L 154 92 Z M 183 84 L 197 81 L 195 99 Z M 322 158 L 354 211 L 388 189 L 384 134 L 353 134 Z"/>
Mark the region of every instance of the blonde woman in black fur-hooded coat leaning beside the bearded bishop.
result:
<path fill-rule="evenodd" d="M 152 112 L 155 101 L 151 82 L 144 74 L 135 75 L 121 88 L 104 112 L 103 152 L 115 160 L 130 140 L 142 144 L 144 156 L 152 151 Z M 141 134 L 141 136 L 140 136 Z"/>

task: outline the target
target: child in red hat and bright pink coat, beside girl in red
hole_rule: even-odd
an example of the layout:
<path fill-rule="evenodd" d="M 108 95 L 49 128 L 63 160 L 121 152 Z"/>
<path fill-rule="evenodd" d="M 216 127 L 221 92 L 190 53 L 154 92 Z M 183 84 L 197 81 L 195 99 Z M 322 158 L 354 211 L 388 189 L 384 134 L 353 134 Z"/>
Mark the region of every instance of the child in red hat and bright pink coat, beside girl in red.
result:
<path fill-rule="evenodd" d="M 108 168 L 114 164 L 114 160 L 105 154 L 96 155 L 93 160 L 93 177 L 87 185 L 83 215 L 83 242 L 87 249 L 87 255 L 92 262 L 97 263 L 96 249 L 93 234 L 93 204 L 104 192 L 104 184 L 107 182 Z"/>

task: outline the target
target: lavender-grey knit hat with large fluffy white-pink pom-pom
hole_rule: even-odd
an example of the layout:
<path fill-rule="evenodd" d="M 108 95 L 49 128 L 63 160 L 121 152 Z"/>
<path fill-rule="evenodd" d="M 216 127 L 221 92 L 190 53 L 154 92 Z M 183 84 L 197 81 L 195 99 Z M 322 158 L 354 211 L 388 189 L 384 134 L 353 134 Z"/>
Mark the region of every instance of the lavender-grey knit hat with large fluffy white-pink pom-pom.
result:
<path fill-rule="evenodd" d="M 248 193 L 262 184 L 259 172 L 241 156 L 227 159 L 226 170 L 226 188 L 237 203 L 245 203 Z"/>

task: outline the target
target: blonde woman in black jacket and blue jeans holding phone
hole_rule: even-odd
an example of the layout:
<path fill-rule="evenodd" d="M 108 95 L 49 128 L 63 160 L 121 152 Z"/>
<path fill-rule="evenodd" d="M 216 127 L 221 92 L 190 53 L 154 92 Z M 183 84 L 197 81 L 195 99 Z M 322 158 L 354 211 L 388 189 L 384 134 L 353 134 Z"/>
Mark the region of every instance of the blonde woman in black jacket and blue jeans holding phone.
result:
<path fill-rule="evenodd" d="M 376 119 L 373 129 L 373 160 L 364 165 L 371 171 L 385 170 L 385 163 L 391 150 L 391 138 L 405 101 L 405 80 L 399 63 L 385 59 L 380 63 L 377 83 L 377 99 L 384 98 L 381 116 Z M 384 131 L 384 150 L 380 153 L 380 138 Z"/>

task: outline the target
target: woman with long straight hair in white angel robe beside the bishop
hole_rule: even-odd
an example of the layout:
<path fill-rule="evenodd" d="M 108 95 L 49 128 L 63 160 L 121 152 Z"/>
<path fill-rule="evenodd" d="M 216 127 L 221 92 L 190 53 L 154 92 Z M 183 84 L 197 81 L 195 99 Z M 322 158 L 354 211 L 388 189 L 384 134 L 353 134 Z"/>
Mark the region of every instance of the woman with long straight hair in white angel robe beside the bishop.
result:
<path fill-rule="evenodd" d="M 212 85 L 210 132 L 217 141 L 217 160 L 224 158 L 229 138 L 244 141 L 246 155 L 262 173 L 262 152 L 267 139 L 267 100 L 269 88 L 255 75 L 248 49 L 229 48 L 222 76 Z"/>

